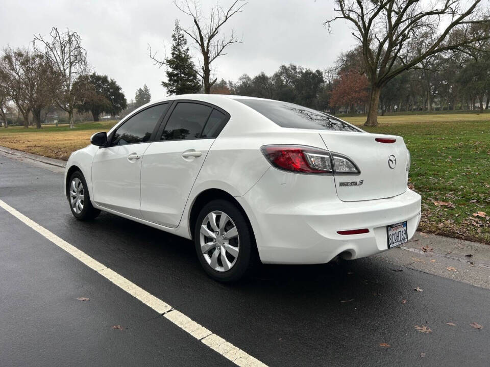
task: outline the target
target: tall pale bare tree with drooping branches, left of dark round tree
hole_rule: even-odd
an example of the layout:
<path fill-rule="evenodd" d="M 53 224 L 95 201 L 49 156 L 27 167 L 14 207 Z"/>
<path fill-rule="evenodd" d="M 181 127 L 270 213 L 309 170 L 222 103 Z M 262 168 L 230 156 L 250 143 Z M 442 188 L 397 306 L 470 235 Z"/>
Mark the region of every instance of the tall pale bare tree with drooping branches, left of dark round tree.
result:
<path fill-rule="evenodd" d="M 77 32 L 60 32 L 53 27 L 50 36 L 48 40 L 35 36 L 34 49 L 45 56 L 53 75 L 58 76 L 58 83 L 52 81 L 51 84 L 53 98 L 68 113 L 70 127 L 74 127 L 73 113 L 81 92 L 79 88 L 74 89 L 73 84 L 80 75 L 88 73 L 87 51 L 81 46 Z"/>

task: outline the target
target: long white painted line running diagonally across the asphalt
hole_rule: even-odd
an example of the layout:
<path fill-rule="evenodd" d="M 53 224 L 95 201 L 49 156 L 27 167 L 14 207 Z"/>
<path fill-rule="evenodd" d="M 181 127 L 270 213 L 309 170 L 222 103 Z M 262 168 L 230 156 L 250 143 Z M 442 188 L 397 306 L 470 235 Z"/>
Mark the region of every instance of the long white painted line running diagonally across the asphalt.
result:
<path fill-rule="evenodd" d="M 149 292 L 146 292 L 141 287 L 129 281 L 125 277 L 117 274 L 115 271 L 109 269 L 104 264 L 99 263 L 99 261 L 90 257 L 85 252 L 79 250 L 75 246 L 70 245 L 68 242 L 62 240 L 53 232 L 37 224 L 30 218 L 24 216 L 22 213 L 18 212 L 16 209 L 14 209 L 6 202 L 0 200 L 0 207 L 4 208 L 7 212 L 12 214 L 21 222 L 27 224 L 36 232 L 40 233 L 44 238 L 50 240 L 56 246 L 62 248 L 70 255 L 79 259 L 83 264 L 85 264 L 89 268 L 101 274 L 103 277 L 105 277 L 106 279 L 108 279 L 109 281 L 117 285 L 120 289 L 126 291 L 131 296 L 143 302 L 145 305 L 149 306 L 150 308 L 153 308 L 158 313 L 163 314 L 164 318 L 174 323 L 182 330 L 192 335 L 194 338 L 201 340 L 203 344 L 207 345 L 209 348 L 218 352 L 219 354 L 229 359 L 236 365 L 241 367 L 267 367 L 264 363 L 262 363 L 258 359 L 252 357 L 250 354 L 247 354 L 241 349 L 235 347 L 233 344 L 228 343 L 225 339 L 214 334 L 212 331 L 206 329 L 204 326 L 199 325 L 197 322 L 185 316 L 185 314 L 183 314 L 182 312 L 171 307 L 168 303 L 165 303 L 164 301 L 155 297 Z"/>

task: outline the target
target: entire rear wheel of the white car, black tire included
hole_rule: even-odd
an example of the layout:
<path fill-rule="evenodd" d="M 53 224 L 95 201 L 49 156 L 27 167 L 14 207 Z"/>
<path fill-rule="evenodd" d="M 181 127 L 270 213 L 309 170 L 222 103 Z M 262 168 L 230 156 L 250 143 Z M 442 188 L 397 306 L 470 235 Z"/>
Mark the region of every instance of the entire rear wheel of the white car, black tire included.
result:
<path fill-rule="evenodd" d="M 207 230 L 201 230 L 203 226 Z M 227 200 L 210 201 L 201 209 L 195 223 L 194 244 L 206 273 L 220 282 L 238 281 L 250 273 L 256 262 L 255 238 L 248 220 Z"/>

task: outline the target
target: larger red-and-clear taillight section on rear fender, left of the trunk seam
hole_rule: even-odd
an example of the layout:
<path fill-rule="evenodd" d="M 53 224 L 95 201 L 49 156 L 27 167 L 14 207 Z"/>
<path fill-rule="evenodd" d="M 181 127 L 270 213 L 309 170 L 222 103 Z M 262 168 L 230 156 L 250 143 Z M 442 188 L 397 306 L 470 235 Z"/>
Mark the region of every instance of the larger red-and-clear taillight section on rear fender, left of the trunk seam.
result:
<path fill-rule="evenodd" d="M 265 158 L 277 168 L 302 173 L 331 173 L 330 154 L 326 150 L 299 145 L 265 145 Z"/>

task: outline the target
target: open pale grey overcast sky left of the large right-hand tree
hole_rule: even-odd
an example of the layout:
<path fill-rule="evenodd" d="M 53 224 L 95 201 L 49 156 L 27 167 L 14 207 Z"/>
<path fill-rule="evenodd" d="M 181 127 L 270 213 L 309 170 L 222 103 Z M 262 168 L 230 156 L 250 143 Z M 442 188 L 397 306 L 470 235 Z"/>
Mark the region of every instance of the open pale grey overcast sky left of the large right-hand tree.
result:
<path fill-rule="evenodd" d="M 232 0 L 219 0 L 224 7 Z M 216 0 L 202 0 L 204 15 Z M 165 70 L 153 66 L 147 45 L 169 51 L 174 21 L 190 27 L 191 19 L 171 0 L 0 0 L 0 46 L 27 45 L 34 34 L 46 36 L 53 26 L 82 37 L 88 61 L 97 73 L 114 78 L 128 100 L 148 85 L 152 99 L 164 97 Z M 354 41 L 348 25 L 337 21 L 329 33 L 323 21 L 333 16 L 333 0 L 249 0 L 224 28 L 242 36 L 214 63 L 216 76 L 236 81 L 247 73 L 272 74 L 281 64 L 324 69 Z M 194 56 L 199 56 L 190 45 Z"/>

